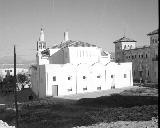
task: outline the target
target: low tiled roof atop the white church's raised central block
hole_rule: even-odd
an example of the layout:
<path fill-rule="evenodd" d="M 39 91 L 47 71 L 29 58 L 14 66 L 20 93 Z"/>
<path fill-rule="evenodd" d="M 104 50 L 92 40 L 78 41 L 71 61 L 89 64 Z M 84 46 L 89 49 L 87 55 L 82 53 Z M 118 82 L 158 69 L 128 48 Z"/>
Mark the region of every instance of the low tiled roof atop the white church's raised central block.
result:
<path fill-rule="evenodd" d="M 73 41 L 73 40 L 68 40 L 66 42 L 63 42 L 61 44 L 55 45 L 52 48 L 65 48 L 65 47 L 97 47 L 96 45 L 89 44 L 86 42 L 82 41 Z"/>

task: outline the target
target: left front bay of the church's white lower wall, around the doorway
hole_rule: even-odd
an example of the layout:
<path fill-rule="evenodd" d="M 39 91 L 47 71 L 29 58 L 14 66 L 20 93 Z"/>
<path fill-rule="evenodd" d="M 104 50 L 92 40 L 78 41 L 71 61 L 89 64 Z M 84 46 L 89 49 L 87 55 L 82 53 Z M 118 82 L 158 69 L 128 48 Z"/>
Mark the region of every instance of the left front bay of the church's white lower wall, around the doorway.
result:
<path fill-rule="evenodd" d="M 76 68 L 71 64 L 58 65 L 50 64 L 46 65 L 46 92 L 47 96 L 52 96 L 52 86 L 58 85 L 58 96 L 69 95 L 76 93 Z M 53 77 L 56 77 L 56 81 L 53 81 Z M 70 80 L 68 80 L 70 77 Z M 72 89 L 72 91 L 70 90 Z"/>

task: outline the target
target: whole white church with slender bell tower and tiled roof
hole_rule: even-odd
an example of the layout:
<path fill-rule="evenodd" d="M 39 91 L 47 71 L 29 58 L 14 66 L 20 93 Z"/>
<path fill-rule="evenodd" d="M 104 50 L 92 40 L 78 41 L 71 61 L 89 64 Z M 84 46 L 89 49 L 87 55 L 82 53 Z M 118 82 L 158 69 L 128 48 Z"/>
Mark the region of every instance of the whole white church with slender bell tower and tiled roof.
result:
<path fill-rule="evenodd" d="M 110 53 L 96 45 L 68 39 L 46 47 L 41 29 L 37 64 L 32 66 L 32 90 L 40 98 L 133 86 L 132 63 L 110 61 Z"/>

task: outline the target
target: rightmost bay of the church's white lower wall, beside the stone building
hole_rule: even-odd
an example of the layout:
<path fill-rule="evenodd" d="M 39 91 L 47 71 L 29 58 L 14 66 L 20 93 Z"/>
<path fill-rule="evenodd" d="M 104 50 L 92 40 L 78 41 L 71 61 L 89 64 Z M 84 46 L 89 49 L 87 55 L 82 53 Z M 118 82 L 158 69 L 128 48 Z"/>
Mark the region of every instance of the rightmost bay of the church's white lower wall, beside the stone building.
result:
<path fill-rule="evenodd" d="M 124 74 L 126 74 L 126 78 L 124 78 Z M 108 89 L 112 85 L 115 85 L 115 88 L 133 86 L 132 63 L 108 63 L 106 65 L 106 85 Z"/>

